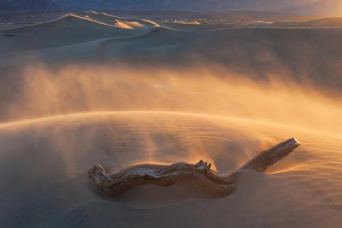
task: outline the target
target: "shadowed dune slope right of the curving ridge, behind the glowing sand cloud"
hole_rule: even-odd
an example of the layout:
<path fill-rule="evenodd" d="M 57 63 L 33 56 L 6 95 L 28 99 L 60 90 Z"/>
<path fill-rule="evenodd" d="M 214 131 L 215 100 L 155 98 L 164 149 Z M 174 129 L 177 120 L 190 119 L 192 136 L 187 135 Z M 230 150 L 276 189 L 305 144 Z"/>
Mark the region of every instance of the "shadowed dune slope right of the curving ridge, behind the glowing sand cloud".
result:
<path fill-rule="evenodd" d="M 101 60 L 171 66 L 221 64 L 256 78 L 284 75 L 293 81 L 339 90 L 341 29 L 159 29 L 131 39 L 106 40 Z M 224 75 L 222 75 L 224 77 Z M 280 76 L 282 77 L 282 76 Z"/>

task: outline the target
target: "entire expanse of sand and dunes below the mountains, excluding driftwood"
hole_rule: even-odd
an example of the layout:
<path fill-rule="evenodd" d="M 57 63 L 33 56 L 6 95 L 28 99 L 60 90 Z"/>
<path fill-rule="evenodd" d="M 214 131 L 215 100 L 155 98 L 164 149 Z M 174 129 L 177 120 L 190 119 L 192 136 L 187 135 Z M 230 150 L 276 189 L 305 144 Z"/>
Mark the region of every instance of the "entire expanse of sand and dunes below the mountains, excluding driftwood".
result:
<path fill-rule="evenodd" d="M 0 25 L 1 228 L 341 227 L 341 18 L 171 14 Z M 288 138 L 301 146 L 224 197 L 88 179 L 200 160 L 227 176 Z"/>

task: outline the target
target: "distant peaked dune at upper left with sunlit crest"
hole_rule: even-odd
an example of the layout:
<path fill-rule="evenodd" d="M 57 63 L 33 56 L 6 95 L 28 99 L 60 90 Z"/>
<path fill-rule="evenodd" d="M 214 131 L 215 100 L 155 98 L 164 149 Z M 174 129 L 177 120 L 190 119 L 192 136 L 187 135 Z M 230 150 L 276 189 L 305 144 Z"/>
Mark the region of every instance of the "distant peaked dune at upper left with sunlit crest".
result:
<path fill-rule="evenodd" d="M 96 21 L 90 16 L 70 14 L 47 23 L 1 30 L 5 36 L 0 36 L 0 51 L 47 49 L 105 38 L 132 37 L 149 32 L 154 27 L 155 25 L 146 21 L 139 23 L 113 19 L 111 23 L 105 23 Z"/>

